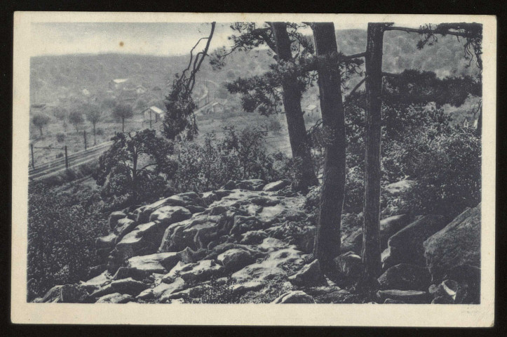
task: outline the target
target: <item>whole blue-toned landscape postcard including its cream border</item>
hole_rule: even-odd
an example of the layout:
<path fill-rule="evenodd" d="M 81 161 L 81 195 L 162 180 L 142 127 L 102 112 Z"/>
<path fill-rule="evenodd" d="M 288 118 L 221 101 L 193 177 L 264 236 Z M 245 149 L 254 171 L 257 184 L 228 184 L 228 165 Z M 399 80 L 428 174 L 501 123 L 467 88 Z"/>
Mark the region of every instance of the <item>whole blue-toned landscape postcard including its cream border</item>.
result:
<path fill-rule="evenodd" d="M 16 15 L 13 322 L 492 324 L 493 16 Z"/>

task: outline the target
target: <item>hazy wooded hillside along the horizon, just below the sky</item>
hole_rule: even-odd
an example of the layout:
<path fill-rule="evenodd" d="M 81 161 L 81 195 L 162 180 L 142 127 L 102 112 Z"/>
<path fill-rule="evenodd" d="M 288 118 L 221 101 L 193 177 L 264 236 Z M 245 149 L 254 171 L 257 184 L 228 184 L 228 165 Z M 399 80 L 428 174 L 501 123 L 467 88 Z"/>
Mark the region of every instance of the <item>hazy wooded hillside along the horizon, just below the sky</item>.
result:
<path fill-rule="evenodd" d="M 439 77 L 477 72 L 475 64 L 466 67 L 463 58 L 462 41 L 454 37 L 441 37 L 435 46 L 427 46 L 422 51 L 416 48 L 419 36 L 404 32 L 386 32 L 384 38 L 384 70 L 399 72 L 411 68 L 431 70 Z M 337 31 L 339 50 L 346 54 L 363 51 L 366 44 L 366 31 L 360 29 Z M 187 65 L 187 56 L 151 56 L 128 54 L 76 54 L 38 56 L 30 65 L 31 103 L 58 105 L 59 98 L 82 95 L 83 88 L 91 94 L 107 90 L 111 79 L 128 78 L 135 85 L 145 88 L 158 86 L 162 94 L 167 93 L 167 81 Z M 220 71 L 212 71 L 205 62 L 199 78 L 211 79 L 217 83 L 259 74 L 273 62 L 265 51 L 236 53 L 231 55 L 227 66 Z"/>

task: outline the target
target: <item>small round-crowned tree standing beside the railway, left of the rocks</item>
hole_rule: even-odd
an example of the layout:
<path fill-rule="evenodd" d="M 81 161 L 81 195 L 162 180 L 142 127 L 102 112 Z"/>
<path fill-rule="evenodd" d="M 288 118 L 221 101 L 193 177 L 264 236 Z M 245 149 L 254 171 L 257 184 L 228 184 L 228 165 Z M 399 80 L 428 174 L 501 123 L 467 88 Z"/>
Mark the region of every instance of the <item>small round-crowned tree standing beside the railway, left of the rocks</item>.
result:
<path fill-rule="evenodd" d="M 137 202 L 157 197 L 155 190 L 164 187 L 172 178 L 177 165 L 173 143 L 157 137 L 154 130 L 116 133 L 113 145 L 99 158 L 99 169 L 94 173 L 103 193 L 112 197 L 127 195 Z"/>

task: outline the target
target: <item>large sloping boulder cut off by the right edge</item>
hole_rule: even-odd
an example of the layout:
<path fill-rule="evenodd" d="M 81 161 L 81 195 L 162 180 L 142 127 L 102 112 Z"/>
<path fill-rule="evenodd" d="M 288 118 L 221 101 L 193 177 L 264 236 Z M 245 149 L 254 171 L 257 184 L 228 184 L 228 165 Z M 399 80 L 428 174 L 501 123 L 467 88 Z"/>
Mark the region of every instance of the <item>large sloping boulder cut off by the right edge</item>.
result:
<path fill-rule="evenodd" d="M 478 204 L 426 239 L 424 257 L 433 282 L 440 282 L 447 271 L 460 265 L 480 267 L 480 218 Z"/>

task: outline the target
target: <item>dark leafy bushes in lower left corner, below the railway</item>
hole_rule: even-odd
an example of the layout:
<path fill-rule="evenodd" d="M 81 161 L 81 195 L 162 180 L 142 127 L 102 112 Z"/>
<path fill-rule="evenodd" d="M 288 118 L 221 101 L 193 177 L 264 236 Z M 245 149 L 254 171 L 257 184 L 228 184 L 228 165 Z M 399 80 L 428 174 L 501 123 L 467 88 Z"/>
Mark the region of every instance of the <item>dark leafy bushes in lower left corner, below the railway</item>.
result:
<path fill-rule="evenodd" d="M 79 199 L 90 203 L 92 195 Z M 29 185 L 27 300 L 55 284 L 86 279 L 95 263 L 95 237 L 106 234 L 107 217 L 76 197 L 55 194 L 41 183 Z"/>

